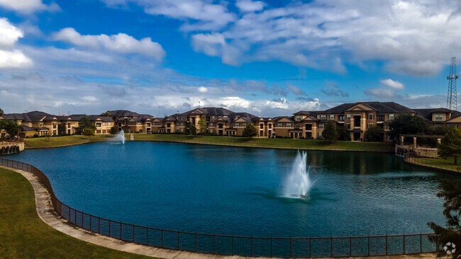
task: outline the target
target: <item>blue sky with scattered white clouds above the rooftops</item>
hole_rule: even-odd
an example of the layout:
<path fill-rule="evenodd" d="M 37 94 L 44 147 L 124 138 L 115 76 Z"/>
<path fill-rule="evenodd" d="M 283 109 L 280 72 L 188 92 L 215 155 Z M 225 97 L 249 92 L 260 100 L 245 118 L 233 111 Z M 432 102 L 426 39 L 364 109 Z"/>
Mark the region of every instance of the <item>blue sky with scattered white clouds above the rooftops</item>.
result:
<path fill-rule="evenodd" d="M 459 0 L 0 0 L 0 108 L 446 107 L 460 25 Z"/>

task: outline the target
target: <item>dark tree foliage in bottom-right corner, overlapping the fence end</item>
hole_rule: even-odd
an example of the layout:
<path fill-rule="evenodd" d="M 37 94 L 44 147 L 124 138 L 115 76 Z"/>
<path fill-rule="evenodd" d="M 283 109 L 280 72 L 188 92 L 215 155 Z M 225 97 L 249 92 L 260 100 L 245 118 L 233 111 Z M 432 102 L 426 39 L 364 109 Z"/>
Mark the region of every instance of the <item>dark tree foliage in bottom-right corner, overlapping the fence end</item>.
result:
<path fill-rule="evenodd" d="M 434 242 L 436 247 L 443 247 L 446 243 L 461 244 L 461 181 L 460 180 L 441 180 L 439 184 L 440 191 L 437 197 L 443 197 L 443 215 L 447 219 L 447 227 L 438 226 L 434 222 L 428 222 L 428 226 L 434 231 L 434 236 L 429 236 L 429 240 Z M 451 250 L 451 249 L 450 249 Z M 438 258 L 446 256 L 447 253 L 442 249 L 438 253 Z M 452 253 L 452 258 L 459 258 L 461 249 L 456 248 Z"/>

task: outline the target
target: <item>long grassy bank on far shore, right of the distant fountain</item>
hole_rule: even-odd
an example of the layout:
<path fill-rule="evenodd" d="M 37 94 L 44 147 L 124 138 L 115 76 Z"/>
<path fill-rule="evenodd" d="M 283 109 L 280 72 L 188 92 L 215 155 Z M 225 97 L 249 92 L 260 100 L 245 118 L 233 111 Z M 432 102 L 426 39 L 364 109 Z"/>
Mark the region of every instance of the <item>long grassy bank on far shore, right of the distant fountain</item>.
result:
<path fill-rule="evenodd" d="M 130 139 L 130 134 L 126 134 Z M 183 134 L 134 134 L 135 141 L 185 142 L 215 144 L 224 146 L 253 146 L 279 149 L 318 149 L 345 151 L 392 152 L 392 144 L 387 142 L 328 142 L 313 139 L 258 139 L 225 136 L 189 136 Z"/>

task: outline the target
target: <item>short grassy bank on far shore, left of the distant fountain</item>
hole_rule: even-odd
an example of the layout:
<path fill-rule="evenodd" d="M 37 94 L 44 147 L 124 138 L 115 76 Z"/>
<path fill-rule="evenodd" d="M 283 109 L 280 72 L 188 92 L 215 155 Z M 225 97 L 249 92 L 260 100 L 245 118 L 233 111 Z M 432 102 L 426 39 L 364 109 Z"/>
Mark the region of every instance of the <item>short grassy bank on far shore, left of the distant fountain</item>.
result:
<path fill-rule="evenodd" d="M 47 148 L 47 147 L 58 147 L 58 146 L 70 146 L 85 144 L 91 142 L 106 142 L 111 139 L 111 135 L 95 135 L 87 137 L 84 135 L 72 135 L 62 137 L 35 137 L 26 139 L 26 148 Z"/>

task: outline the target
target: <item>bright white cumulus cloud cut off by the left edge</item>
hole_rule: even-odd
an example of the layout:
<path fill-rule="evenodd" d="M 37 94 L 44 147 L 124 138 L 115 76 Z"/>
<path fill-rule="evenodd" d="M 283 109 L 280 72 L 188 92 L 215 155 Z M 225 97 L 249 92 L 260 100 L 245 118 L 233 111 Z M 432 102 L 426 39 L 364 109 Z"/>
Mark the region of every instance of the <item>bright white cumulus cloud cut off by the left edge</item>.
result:
<path fill-rule="evenodd" d="M 32 64 L 30 58 L 15 48 L 19 38 L 23 38 L 23 32 L 6 18 L 0 18 L 0 68 L 28 67 Z"/>

